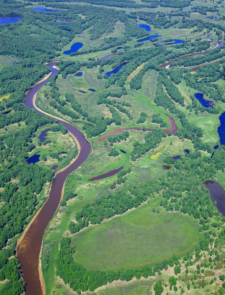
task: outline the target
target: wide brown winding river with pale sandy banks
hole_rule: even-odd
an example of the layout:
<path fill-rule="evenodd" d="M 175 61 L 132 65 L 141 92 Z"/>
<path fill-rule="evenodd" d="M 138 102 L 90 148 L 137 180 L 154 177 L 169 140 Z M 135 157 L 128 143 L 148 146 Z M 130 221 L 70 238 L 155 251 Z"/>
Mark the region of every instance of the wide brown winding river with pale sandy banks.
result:
<path fill-rule="evenodd" d="M 40 114 L 52 117 L 38 109 L 35 105 L 35 98 L 38 90 L 48 82 L 48 78 L 53 76 L 58 71 L 54 67 L 55 62 L 51 62 L 47 65 L 51 70 L 50 75 L 41 80 L 27 92 L 25 97 L 25 105 L 31 109 L 34 109 Z M 63 119 L 57 120 L 59 123 L 62 123 L 74 137 L 79 152 L 74 161 L 72 161 L 66 168 L 58 171 L 55 174 L 55 180 L 51 184 L 48 200 L 34 216 L 30 224 L 27 226 L 25 232 L 18 240 L 17 256 L 20 264 L 22 265 L 22 271 L 24 274 L 23 279 L 26 284 L 26 295 L 44 295 L 45 282 L 41 273 L 41 267 L 39 265 L 42 239 L 51 218 L 59 206 L 61 196 L 63 195 L 66 178 L 87 159 L 91 151 L 91 144 L 87 141 L 79 129 L 75 128 L 75 126 Z"/>

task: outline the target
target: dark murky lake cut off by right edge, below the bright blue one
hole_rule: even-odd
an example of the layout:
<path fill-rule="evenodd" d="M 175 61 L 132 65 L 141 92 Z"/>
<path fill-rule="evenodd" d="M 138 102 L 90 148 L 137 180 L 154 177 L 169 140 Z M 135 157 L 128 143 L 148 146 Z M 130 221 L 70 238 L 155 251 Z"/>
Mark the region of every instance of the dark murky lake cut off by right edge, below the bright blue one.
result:
<path fill-rule="evenodd" d="M 209 190 L 212 202 L 217 202 L 218 210 L 225 216 L 225 191 L 223 187 L 217 181 L 212 180 L 205 181 L 204 186 Z"/>

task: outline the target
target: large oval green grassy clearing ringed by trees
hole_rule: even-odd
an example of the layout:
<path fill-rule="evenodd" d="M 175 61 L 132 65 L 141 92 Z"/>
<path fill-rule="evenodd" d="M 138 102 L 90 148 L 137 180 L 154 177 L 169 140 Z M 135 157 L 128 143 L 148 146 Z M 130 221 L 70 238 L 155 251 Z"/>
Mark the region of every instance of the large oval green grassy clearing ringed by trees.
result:
<path fill-rule="evenodd" d="M 197 222 L 179 212 L 153 213 L 159 201 L 75 235 L 75 260 L 88 269 L 126 269 L 191 251 L 201 237 Z"/>

